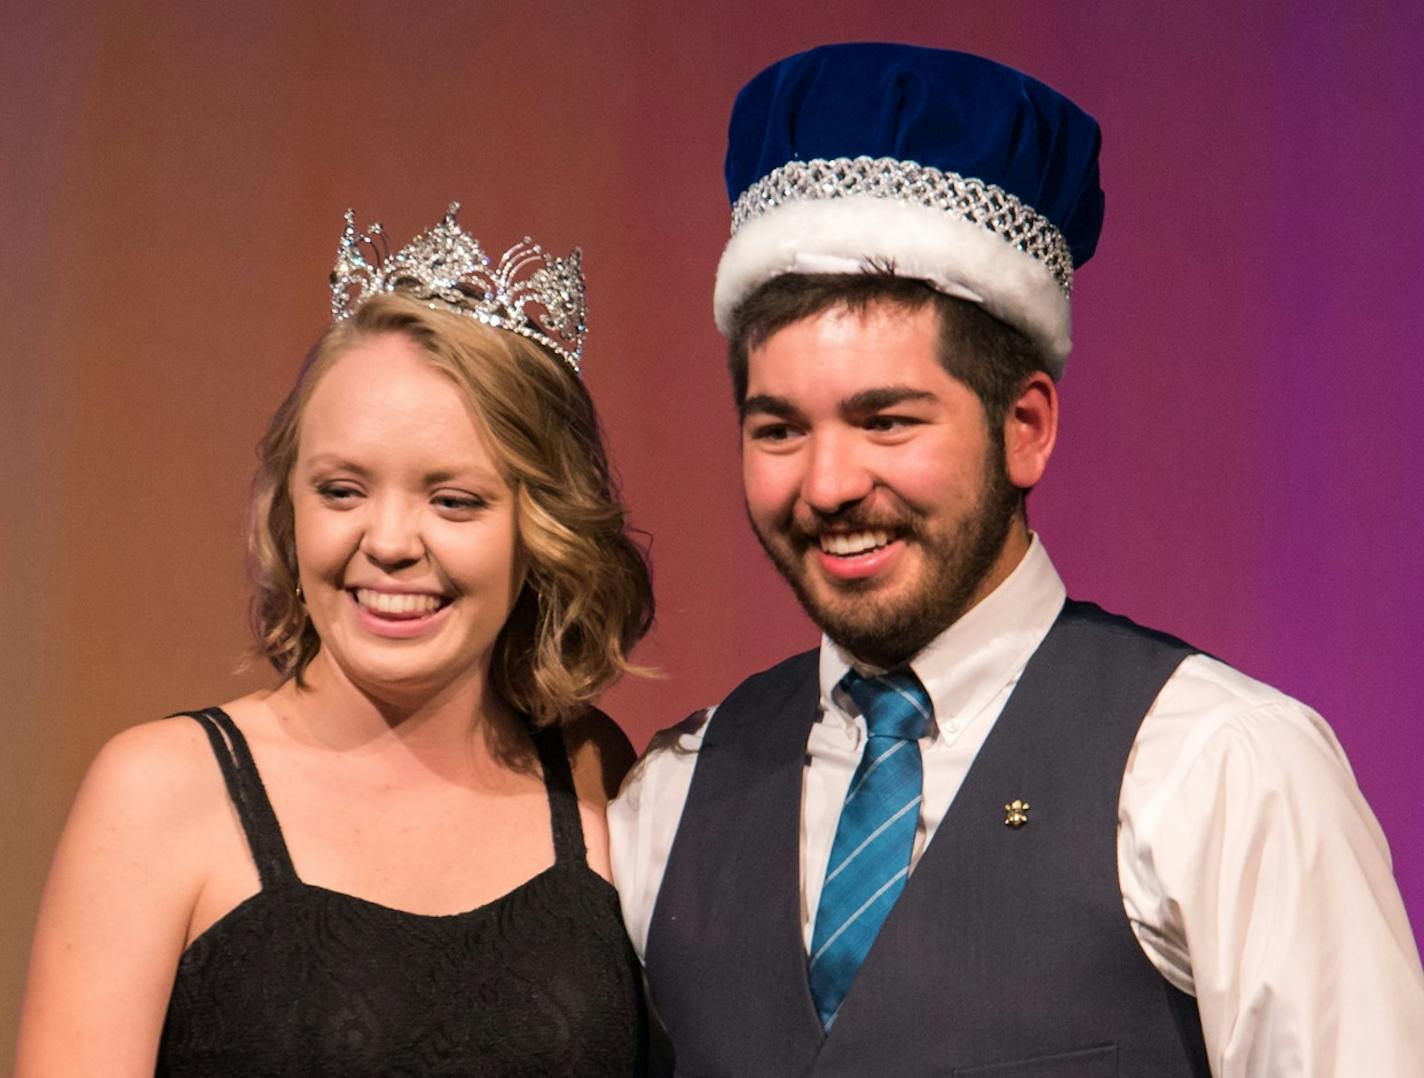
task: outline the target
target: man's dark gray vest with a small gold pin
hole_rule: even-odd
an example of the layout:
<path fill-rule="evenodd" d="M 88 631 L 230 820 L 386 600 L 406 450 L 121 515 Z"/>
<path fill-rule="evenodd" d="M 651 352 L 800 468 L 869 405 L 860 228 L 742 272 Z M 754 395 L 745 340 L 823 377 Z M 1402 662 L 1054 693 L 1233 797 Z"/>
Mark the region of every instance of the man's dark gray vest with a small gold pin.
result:
<path fill-rule="evenodd" d="M 1142 954 L 1118 887 L 1118 792 L 1192 648 L 1069 601 L 1030 659 L 832 1032 L 806 980 L 799 830 L 816 652 L 718 708 L 648 933 L 676 1074 L 1209 1075 L 1195 1001 Z M 1004 805 L 1031 805 L 1004 825 Z"/>

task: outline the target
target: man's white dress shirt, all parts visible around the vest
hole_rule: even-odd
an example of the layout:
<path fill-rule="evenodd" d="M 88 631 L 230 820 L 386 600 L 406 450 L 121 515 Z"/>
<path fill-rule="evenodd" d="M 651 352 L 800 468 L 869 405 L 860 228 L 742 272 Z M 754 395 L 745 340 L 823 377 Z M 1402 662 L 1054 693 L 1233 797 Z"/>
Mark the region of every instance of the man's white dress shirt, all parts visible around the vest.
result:
<path fill-rule="evenodd" d="M 1034 543 L 991 595 L 910 664 L 934 701 L 920 741 L 914 864 L 1065 598 Z M 820 721 L 802 787 L 809 947 L 864 721 L 820 647 Z M 715 711 L 656 735 L 608 809 L 612 870 L 642 956 L 698 749 Z M 1195 995 L 1218 1078 L 1424 1077 L 1424 973 L 1390 852 L 1310 708 L 1193 655 L 1134 742 L 1118 802 L 1122 904 L 1143 954 Z"/>

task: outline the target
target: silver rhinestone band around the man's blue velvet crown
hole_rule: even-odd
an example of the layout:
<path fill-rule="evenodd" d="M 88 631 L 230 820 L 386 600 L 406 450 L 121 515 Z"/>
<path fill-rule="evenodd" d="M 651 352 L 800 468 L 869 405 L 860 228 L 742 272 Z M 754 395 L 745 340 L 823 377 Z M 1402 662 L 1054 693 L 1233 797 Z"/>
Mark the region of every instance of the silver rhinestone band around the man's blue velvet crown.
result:
<path fill-rule="evenodd" d="M 1064 295 L 1072 293 L 1072 253 L 1052 221 L 997 184 L 893 157 L 815 158 L 773 168 L 736 199 L 732 235 L 786 202 L 847 195 L 889 198 L 973 221 L 1038 259 Z"/>

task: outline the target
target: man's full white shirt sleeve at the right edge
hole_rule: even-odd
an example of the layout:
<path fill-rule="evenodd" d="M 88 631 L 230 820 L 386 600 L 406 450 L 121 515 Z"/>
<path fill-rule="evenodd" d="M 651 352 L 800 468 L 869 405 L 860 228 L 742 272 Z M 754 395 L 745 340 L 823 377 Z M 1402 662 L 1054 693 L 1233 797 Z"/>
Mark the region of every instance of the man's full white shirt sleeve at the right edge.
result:
<path fill-rule="evenodd" d="M 1188 659 L 1124 779 L 1124 906 L 1196 995 L 1216 1078 L 1424 1075 L 1424 973 L 1390 852 L 1329 726 Z"/>

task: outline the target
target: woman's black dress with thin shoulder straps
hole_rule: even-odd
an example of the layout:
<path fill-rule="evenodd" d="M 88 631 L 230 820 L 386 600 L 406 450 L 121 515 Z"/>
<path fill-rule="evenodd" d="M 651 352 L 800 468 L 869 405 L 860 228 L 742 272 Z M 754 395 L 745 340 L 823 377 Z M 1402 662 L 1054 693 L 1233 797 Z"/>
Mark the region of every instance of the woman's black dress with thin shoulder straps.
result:
<path fill-rule="evenodd" d="M 562 739 L 535 732 L 553 866 L 468 913 L 423 916 L 298 879 L 238 728 L 212 741 L 262 889 L 178 963 L 158 1075 L 629 1075 L 637 958 L 612 886 L 584 860 Z"/>

